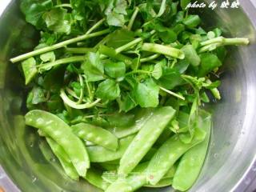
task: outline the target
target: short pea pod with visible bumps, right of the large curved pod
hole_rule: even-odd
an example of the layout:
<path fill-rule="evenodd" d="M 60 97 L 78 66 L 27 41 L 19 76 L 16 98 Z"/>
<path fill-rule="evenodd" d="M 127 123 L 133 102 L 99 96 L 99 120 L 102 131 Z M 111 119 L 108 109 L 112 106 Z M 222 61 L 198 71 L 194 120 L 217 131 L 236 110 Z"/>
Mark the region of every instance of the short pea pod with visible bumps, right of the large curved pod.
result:
<path fill-rule="evenodd" d="M 111 134 L 110 131 L 102 129 L 102 127 L 81 122 L 71 126 L 71 128 L 73 133 L 83 140 L 93 142 L 108 150 L 118 149 L 118 138 L 116 138 L 114 134 Z"/>

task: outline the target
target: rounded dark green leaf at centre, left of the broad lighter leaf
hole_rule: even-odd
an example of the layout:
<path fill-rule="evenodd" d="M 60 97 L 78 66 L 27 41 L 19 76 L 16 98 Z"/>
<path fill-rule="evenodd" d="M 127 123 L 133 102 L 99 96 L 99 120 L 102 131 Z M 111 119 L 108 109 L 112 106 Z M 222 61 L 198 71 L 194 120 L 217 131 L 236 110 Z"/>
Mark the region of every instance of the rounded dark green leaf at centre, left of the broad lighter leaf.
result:
<path fill-rule="evenodd" d="M 112 79 L 106 79 L 104 82 L 101 82 L 98 85 L 96 95 L 98 98 L 102 98 L 105 101 L 113 101 L 120 95 L 120 88 L 118 86 L 118 83 Z"/>

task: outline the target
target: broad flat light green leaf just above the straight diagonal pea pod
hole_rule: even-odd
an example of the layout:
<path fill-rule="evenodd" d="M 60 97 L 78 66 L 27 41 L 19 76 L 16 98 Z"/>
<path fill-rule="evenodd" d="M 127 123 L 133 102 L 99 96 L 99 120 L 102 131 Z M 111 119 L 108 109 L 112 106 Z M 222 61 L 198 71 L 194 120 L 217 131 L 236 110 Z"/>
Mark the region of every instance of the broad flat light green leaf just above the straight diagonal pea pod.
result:
<path fill-rule="evenodd" d="M 135 88 L 135 98 L 138 104 L 142 107 L 158 106 L 159 86 L 151 79 L 146 79 L 145 82 L 138 83 Z"/>

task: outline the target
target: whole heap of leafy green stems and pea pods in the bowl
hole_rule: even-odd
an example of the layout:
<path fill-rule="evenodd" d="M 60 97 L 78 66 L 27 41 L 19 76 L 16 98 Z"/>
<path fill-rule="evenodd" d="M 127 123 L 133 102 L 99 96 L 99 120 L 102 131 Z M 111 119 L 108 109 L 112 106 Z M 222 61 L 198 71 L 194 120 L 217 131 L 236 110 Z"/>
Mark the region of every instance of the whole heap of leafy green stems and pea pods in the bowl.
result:
<path fill-rule="evenodd" d="M 206 32 L 189 2 L 21 1 L 41 34 L 32 52 L 10 59 L 30 88 L 26 124 L 70 178 L 108 192 L 193 185 L 210 138 L 199 107 L 221 99 L 225 46 L 249 40 Z"/>

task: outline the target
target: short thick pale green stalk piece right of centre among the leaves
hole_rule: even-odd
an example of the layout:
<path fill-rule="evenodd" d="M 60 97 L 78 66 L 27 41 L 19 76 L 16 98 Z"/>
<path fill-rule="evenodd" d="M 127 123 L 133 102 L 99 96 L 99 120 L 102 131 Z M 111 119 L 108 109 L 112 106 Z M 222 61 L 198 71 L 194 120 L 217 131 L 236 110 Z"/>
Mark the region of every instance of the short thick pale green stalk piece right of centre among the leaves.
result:
<path fill-rule="evenodd" d="M 156 43 L 143 43 L 142 50 L 156 54 L 165 54 L 166 56 L 170 56 L 173 58 L 185 58 L 185 54 L 183 53 L 182 50 L 178 50 L 170 46 L 163 46 Z"/>

